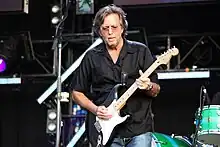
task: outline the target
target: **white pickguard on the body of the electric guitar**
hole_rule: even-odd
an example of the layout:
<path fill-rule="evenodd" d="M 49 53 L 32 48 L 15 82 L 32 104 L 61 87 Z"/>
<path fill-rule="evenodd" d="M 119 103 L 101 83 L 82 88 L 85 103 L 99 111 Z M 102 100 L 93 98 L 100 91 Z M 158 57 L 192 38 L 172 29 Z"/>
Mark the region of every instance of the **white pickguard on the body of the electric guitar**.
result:
<path fill-rule="evenodd" d="M 119 111 L 116 110 L 115 104 L 116 100 L 114 100 L 111 105 L 108 106 L 108 110 L 112 114 L 112 117 L 109 120 L 103 120 L 96 117 L 96 122 L 98 122 L 101 127 L 103 145 L 108 142 L 115 126 L 124 122 L 129 117 L 129 115 L 121 117 L 119 115 Z"/>

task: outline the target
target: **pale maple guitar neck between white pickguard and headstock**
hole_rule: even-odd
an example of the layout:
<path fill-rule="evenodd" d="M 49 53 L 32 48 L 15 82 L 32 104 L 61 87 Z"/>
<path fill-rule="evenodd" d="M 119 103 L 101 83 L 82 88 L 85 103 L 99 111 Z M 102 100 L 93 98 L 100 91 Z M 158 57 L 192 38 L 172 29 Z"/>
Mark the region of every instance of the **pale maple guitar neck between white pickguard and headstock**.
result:
<path fill-rule="evenodd" d="M 158 62 L 155 61 L 139 78 L 149 77 L 150 74 L 158 67 Z M 115 108 L 116 110 L 120 110 L 125 105 L 126 101 L 129 97 L 135 92 L 137 89 L 137 84 L 134 82 L 130 88 L 116 101 Z"/>

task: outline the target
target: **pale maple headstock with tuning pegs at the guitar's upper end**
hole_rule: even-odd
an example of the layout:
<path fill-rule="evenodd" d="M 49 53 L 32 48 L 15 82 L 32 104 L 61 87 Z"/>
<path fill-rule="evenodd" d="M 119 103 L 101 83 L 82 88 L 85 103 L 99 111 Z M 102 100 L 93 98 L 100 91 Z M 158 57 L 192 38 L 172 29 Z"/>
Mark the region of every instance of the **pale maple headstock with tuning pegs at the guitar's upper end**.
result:
<path fill-rule="evenodd" d="M 179 50 L 174 46 L 171 49 L 168 49 L 165 53 L 157 57 L 157 62 L 160 64 L 167 64 L 172 56 L 179 54 Z"/>

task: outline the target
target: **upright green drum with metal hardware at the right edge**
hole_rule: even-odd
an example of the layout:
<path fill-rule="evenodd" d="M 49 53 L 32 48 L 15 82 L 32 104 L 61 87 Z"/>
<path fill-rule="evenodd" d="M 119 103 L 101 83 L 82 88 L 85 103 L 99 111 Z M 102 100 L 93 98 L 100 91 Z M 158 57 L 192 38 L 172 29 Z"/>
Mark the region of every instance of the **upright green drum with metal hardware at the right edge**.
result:
<path fill-rule="evenodd" d="M 198 124 L 200 109 L 197 112 Z M 200 120 L 198 140 L 206 144 L 220 145 L 220 105 L 204 106 Z"/>

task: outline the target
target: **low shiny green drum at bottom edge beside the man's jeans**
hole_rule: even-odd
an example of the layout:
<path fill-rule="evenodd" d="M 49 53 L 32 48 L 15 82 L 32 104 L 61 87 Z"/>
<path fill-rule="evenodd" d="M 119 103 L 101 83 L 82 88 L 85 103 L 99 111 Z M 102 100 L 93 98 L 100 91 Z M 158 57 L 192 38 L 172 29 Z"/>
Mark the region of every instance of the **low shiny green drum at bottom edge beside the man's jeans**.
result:
<path fill-rule="evenodd" d="M 152 133 L 152 147 L 191 147 L 192 144 L 182 136 L 168 136 L 161 133 Z"/>

